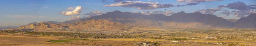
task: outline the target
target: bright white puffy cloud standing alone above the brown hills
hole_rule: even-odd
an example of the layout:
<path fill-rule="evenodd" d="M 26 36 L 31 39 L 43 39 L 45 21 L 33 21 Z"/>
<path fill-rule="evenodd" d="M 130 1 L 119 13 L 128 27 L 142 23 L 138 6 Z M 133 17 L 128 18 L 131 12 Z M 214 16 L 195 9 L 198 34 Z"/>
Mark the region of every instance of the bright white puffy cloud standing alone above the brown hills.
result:
<path fill-rule="evenodd" d="M 67 15 L 80 15 L 81 14 L 81 6 L 77 6 L 74 10 L 72 11 L 63 11 L 61 14 L 67 16 Z"/>

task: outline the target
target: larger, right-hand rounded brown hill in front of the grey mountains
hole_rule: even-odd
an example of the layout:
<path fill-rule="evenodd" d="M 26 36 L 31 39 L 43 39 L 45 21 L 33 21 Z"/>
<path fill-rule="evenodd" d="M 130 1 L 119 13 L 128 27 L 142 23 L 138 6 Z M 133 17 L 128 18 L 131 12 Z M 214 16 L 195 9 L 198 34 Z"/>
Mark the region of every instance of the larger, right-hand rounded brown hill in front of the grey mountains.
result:
<path fill-rule="evenodd" d="M 130 26 L 123 25 L 121 23 L 110 22 L 107 20 L 87 20 L 79 21 L 76 23 L 68 23 L 63 26 L 69 26 L 69 28 L 93 28 L 93 29 L 110 29 L 110 28 L 131 28 Z"/>

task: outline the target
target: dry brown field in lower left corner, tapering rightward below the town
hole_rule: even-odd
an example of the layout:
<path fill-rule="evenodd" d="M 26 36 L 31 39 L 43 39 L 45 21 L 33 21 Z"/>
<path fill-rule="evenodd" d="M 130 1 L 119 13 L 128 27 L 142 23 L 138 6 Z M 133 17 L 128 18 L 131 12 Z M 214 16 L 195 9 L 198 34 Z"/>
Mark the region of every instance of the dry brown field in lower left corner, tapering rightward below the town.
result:
<path fill-rule="evenodd" d="M 59 40 L 62 38 L 62 40 Z M 47 42 L 49 41 L 49 42 Z M 134 42 L 107 41 L 99 39 L 63 38 L 63 37 L 35 37 L 26 35 L 0 35 L 0 46 L 123 46 Z"/>

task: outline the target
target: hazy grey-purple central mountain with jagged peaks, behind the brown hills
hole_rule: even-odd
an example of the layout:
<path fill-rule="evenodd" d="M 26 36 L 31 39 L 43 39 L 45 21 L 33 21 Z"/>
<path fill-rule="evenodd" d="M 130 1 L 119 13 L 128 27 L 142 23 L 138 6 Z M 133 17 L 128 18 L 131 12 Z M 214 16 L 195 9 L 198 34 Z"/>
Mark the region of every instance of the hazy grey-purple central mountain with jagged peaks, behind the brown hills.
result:
<path fill-rule="evenodd" d="M 129 26 L 151 28 L 231 28 L 230 22 L 215 15 L 179 12 L 171 16 L 163 14 L 120 12 L 118 10 L 84 20 L 101 19 L 123 23 Z M 82 20 L 83 21 L 83 20 Z"/>

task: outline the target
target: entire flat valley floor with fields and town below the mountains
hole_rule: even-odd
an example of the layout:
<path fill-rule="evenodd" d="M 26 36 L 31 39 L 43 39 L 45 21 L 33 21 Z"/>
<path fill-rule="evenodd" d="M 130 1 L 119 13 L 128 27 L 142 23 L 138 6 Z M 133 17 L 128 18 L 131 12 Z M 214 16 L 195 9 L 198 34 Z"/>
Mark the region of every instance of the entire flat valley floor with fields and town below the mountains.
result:
<path fill-rule="evenodd" d="M 0 31 L 0 46 L 141 46 L 147 42 L 154 46 L 256 46 L 255 29 L 230 30 Z"/>

